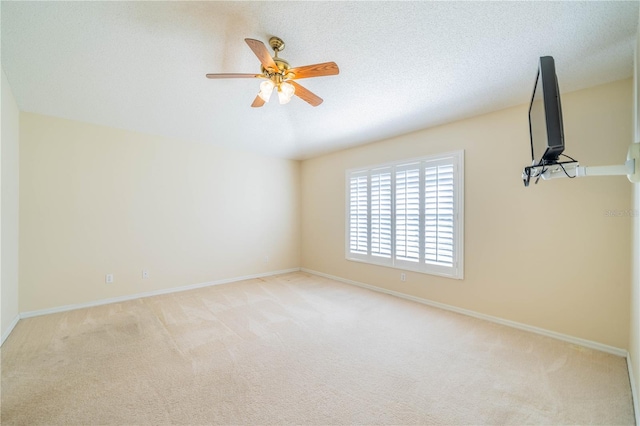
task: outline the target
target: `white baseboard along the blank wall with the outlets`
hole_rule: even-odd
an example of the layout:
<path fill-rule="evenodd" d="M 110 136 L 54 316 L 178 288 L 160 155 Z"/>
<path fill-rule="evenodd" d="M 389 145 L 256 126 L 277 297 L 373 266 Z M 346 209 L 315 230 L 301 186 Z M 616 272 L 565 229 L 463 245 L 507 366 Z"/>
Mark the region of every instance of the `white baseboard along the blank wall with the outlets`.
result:
<path fill-rule="evenodd" d="M 299 270 L 300 270 L 300 268 L 283 269 L 283 270 L 280 270 L 280 271 L 264 272 L 264 273 L 261 273 L 261 274 L 245 275 L 245 276 L 242 276 L 242 277 L 227 278 L 227 279 L 224 279 L 224 280 L 217 280 L 217 281 L 208 281 L 208 282 L 204 282 L 204 283 L 190 284 L 190 285 L 185 285 L 185 286 L 181 286 L 181 287 L 165 288 L 165 289 L 162 289 L 162 290 L 154 290 L 154 291 L 148 291 L 148 292 L 145 292 L 145 293 L 130 294 L 130 295 L 127 295 L 127 296 L 111 297 L 109 299 L 95 300 L 95 301 L 92 301 L 92 302 L 76 303 L 76 304 L 72 304 L 72 305 L 57 306 L 55 308 L 47 308 L 47 309 L 39 309 L 39 310 L 36 310 L 36 311 L 21 312 L 20 313 L 20 319 L 37 317 L 37 316 L 41 316 L 41 315 L 54 314 L 54 313 L 57 313 L 57 312 L 73 311 L 73 310 L 76 310 L 76 309 L 91 308 L 93 306 L 108 305 L 108 304 L 111 304 L 111 303 L 126 302 L 126 301 L 129 301 L 129 300 L 141 299 L 143 297 L 159 296 L 161 294 L 178 293 L 178 292 L 181 292 L 181 291 L 195 290 L 197 288 L 209 287 L 209 286 L 213 286 L 213 285 L 229 284 L 229 283 L 234 283 L 234 282 L 238 282 L 238 281 L 251 280 L 251 279 L 255 279 L 255 278 L 262 278 L 262 277 L 269 277 L 269 276 L 273 276 L 273 275 L 288 274 L 290 272 L 297 272 Z M 17 322 L 17 320 L 16 320 L 16 322 Z"/>

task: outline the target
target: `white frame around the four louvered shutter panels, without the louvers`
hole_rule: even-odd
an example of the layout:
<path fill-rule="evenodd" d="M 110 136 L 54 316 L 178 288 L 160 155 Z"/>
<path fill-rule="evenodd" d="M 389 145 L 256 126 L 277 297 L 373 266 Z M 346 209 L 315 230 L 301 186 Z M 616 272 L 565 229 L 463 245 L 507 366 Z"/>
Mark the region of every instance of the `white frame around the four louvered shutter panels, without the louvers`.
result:
<path fill-rule="evenodd" d="M 430 164 L 431 163 L 431 164 Z M 425 169 L 443 164 L 453 165 L 453 260 L 451 266 L 442 266 L 425 261 Z M 396 254 L 396 199 L 397 172 L 419 169 L 419 258 L 417 262 L 397 259 Z M 371 174 L 375 171 L 389 170 L 391 173 L 391 255 L 389 258 L 373 255 L 372 249 L 372 199 Z M 374 173 L 375 174 L 375 173 Z M 351 177 L 367 176 L 367 253 L 351 252 Z M 367 167 L 357 167 L 345 171 L 345 258 L 349 261 L 368 263 L 378 266 L 437 275 L 453 279 L 464 279 L 464 150 L 417 158 L 408 158 Z"/>

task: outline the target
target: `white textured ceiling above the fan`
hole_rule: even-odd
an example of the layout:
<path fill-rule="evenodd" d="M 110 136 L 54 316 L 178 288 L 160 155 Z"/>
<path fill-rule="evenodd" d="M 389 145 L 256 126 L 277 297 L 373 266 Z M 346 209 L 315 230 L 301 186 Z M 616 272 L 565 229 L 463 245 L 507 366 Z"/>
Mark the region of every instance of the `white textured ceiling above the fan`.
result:
<path fill-rule="evenodd" d="M 7 2 L 2 68 L 22 111 L 309 158 L 528 102 L 539 56 L 562 92 L 630 77 L 638 2 Z M 244 38 L 282 38 L 324 99 L 250 108 Z"/>

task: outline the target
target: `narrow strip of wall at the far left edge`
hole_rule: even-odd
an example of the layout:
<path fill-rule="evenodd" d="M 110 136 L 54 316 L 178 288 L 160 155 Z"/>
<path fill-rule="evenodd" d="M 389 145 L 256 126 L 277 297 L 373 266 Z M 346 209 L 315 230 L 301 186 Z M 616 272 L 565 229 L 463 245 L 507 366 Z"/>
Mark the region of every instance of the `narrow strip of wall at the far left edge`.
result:
<path fill-rule="evenodd" d="M 18 316 L 18 131 L 20 114 L 4 71 L 2 71 L 1 91 L 0 336 L 4 339 Z"/>

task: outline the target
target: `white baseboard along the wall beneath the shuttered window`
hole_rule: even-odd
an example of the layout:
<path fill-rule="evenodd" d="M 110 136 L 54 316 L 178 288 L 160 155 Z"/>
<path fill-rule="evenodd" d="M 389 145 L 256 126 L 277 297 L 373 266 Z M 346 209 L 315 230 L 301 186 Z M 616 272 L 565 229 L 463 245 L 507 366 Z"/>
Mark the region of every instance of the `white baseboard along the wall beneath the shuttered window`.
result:
<path fill-rule="evenodd" d="M 335 281 L 339 281 L 339 282 L 342 282 L 342 283 L 345 283 L 345 284 L 351 284 L 351 285 L 355 285 L 355 286 L 358 286 L 358 287 L 363 287 L 363 288 L 366 288 L 366 289 L 369 289 L 369 290 L 377 291 L 377 292 L 380 292 L 380 293 L 390 294 L 392 296 L 401 297 L 401 298 L 407 299 L 407 300 L 412 300 L 414 302 L 422 303 L 424 305 L 433 306 L 435 308 L 440 308 L 440 309 L 445 309 L 447 311 L 456 312 L 456 313 L 459 313 L 459 314 L 462 314 L 462 315 L 467 315 L 467 316 L 470 316 L 470 317 L 483 319 L 483 320 L 486 320 L 486 321 L 491 321 L 491 322 L 494 322 L 494 323 L 497 323 L 497 324 L 506 325 L 508 327 L 517 328 L 519 330 L 525 330 L 525 331 L 529 331 L 529 332 L 532 332 L 532 333 L 541 334 L 543 336 L 552 337 L 552 338 L 557 339 L 557 340 L 562 340 L 562 341 L 565 341 L 565 342 L 568 342 L 568 343 L 572 343 L 574 345 L 584 346 L 586 348 L 595 349 L 595 350 L 598 350 L 598 351 L 602 351 L 602 352 L 606 352 L 606 353 L 609 353 L 609 354 L 617 355 L 617 356 L 620 356 L 620 357 L 623 357 L 623 358 L 625 358 L 627 356 L 627 351 L 625 349 L 616 348 L 614 346 L 605 345 L 605 344 L 594 342 L 594 341 L 591 341 L 591 340 L 581 339 L 579 337 L 569 336 L 567 334 L 557 333 L 555 331 L 546 330 L 544 328 L 534 327 L 534 326 L 523 324 L 523 323 L 519 323 L 519 322 L 516 322 L 516 321 L 511 321 L 511 320 L 507 320 L 507 319 L 503 319 L 503 318 L 494 317 L 494 316 L 491 316 L 491 315 L 481 314 L 479 312 L 470 311 L 468 309 L 458 308 L 456 306 L 447 305 L 447 304 L 440 303 L 440 302 L 434 302 L 434 301 L 428 300 L 428 299 L 422 299 L 420 297 L 411 296 L 411 295 L 400 293 L 400 292 L 393 291 L 393 290 L 387 290 L 387 289 L 382 288 L 382 287 L 376 287 L 376 286 L 373 286 L 373 285 L 370 285 L 370 284 L 361 283 L 359 281 L 353 281 L 353 280 L 349 280 L 349 279 L 346 279 L 346 278 L 336 277 L 334 275 L 325 274 L 323 272 L 318 272 L 318 271 L 314 271 L 314 270 L 307 269 L 307 268 L 300 268 L 300 270 L 302 272 L 306 272 L 306 273 L 313 274 L 313 275 L 318 275 L 320 277 L 329 278 L 329 279 L 332 279 L 332 280 L 335 280 Z"/>

